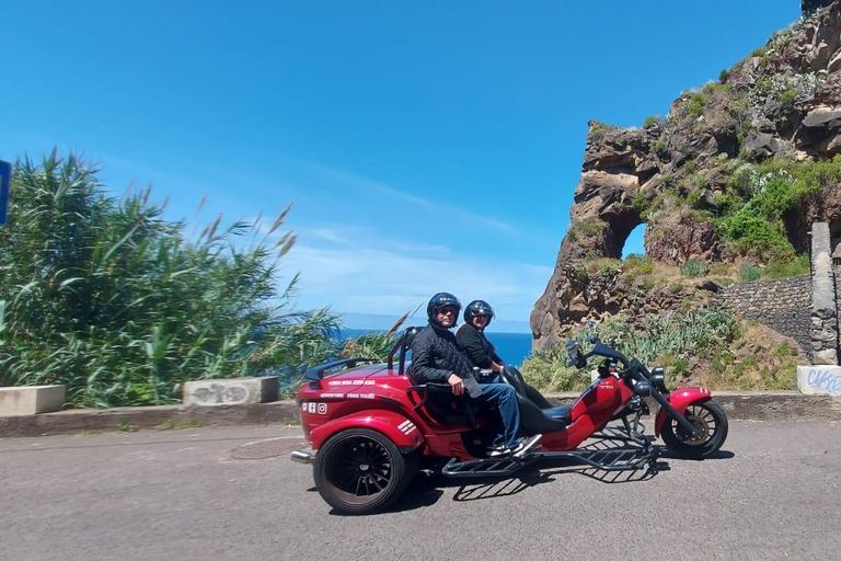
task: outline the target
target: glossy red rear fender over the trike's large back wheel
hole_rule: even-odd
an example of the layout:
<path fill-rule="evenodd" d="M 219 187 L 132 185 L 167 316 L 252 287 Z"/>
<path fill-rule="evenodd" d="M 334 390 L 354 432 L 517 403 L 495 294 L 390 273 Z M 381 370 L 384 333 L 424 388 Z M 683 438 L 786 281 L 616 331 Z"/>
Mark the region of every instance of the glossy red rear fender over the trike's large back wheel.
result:
<path fill-rule="evenodd" d="M 369 428 L 382 433 L 403 454 L 410 453 L 424 444 L 420 431 L 406 416 L 393 411 L 372 411 L 335 419 L 313 428 L 311 434 L 312 449 L 318 450 L 324 440 L 348 428 Z"/>

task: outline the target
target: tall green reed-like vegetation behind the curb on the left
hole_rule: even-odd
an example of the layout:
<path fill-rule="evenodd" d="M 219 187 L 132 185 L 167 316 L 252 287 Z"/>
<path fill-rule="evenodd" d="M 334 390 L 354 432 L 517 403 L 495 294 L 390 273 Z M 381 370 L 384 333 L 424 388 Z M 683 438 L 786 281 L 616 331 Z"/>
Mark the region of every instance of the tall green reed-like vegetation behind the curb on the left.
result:
<path fill-rule="evenodd" d="M 276 285 L 296 239 L 279 233 L 288 207 L 266 228 L 217 219 L 187 239 L 149 196 L 108 197 L 72 154 L 18 162 L 0 228 L 0 386 L 162 404 L 187 380 L 295 378 L 335 353 L 336 316 L 296 311 L 297 277 Z"/>

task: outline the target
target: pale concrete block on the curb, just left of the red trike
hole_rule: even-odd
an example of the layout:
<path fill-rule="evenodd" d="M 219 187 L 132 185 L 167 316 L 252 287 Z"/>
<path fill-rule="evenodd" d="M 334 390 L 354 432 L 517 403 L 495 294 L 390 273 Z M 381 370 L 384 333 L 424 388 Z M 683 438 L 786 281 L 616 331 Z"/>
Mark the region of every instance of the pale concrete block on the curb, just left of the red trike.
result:
<path fill-rule="evenodd" d="M 277 378 L 232 378 L 196 380 L 184 385 L 185 405 L 238 405 L 277 401 Z"/>

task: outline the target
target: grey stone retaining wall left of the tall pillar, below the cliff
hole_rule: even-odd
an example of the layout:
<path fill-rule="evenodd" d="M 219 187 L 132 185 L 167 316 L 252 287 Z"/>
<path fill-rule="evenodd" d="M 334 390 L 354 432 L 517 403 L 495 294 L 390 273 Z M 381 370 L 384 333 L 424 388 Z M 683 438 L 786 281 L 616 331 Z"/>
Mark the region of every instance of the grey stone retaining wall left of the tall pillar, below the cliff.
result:
<path fill-rule="evenodd" d="M 794 339 L 811 358 L 810 275 L 730 285 L 721 291 L 721 298 L 737 316 Z"/>

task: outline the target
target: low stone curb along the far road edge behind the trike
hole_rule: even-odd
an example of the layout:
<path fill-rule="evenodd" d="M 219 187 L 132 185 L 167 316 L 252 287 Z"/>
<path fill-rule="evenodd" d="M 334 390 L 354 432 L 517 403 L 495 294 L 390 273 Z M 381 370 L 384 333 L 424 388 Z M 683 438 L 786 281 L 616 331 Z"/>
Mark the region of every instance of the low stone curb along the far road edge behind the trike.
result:
<path fill-rule="evenodd" d="M 572 405 L 578 393 L 546 393 L 556 405 Z M 841 420 L 841 400 L 798 391 L 719 391 L 714 394 L 734 420 Z M 652 408 L 652 412 L 656 411 Z M 300 414 L 295 400 L 241 405 L 72 409 L 37 415 L 0 416 L 0 437 L 46 436 L 141 428 L 198 426 L 295 425 Z"/>

